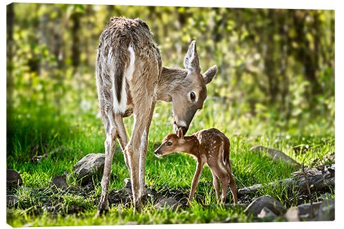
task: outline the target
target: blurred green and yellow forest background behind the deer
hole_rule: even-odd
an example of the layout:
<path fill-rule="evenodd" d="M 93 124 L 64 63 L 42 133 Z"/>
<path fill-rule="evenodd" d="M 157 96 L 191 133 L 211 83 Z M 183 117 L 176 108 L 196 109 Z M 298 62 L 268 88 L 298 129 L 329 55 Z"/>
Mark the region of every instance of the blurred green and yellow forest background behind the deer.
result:
<path fill-rule="evenodd" d="M 183 67 L 195 39 L 203 71 L 219 69 L 202 112 L 226 120 L 231 133 L 269 129 L 334 138 L 334 10 L 12 3 L 8 152 L 14 135 L 31 134 L 25 125 L 54 135 L 63 124 L 89 124 L 103 134 L 94 63 L 100 33 L 114 16 L 146 21 L 165 66 Z"/>

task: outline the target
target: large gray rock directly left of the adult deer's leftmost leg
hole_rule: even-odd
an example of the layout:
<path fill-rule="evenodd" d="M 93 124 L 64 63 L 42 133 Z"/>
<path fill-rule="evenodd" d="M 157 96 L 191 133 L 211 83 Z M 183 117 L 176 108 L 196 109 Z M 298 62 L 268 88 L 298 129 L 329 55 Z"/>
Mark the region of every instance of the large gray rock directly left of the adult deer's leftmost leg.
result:
<path fill-rule="evenodd" d="M 73 173 L 81 184 L 87 184 L 93 175 L 103 173 L 105 164 L 104 153 L 89 153 L 73 166 Z"/>

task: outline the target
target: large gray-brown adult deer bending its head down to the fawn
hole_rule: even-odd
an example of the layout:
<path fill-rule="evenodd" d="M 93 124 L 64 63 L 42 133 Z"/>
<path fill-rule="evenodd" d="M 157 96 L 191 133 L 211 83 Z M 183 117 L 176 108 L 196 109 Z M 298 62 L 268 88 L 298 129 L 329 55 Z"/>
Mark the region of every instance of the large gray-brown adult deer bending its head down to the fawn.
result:
<path fill-rule="evenodd" d="M 100 113 L 105 126 L 105 166 L 98 215 L 109 208 L 108 190 L 116 138 L 125 155 L 131 177 L 135 210 L 142 210 L 147 138 L 156 100 L 172 102 L 173 128 L 185 134 L 206 98 L 217 67 L 203 75 L 195 41 L 184 58 L 184 67 L 162 67 L 160 50 L 141 19 L 114 17 L 100 35 L 96 58 L 96 82 Z M 128 142 L 122 118 L 133 113 Z"/>

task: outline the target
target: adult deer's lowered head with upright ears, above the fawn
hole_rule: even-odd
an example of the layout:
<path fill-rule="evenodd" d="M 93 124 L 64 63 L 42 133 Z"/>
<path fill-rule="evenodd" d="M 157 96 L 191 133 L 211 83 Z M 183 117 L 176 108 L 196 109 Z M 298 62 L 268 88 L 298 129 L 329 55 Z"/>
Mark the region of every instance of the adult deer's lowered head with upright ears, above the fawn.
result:
<path fill-rule="evenodd" d="M 198 109 L 202 109 L 206 99 L 206 84 L 210 83 L 217 72 L 217 67 L 210 67 L 201 74 L 200 61 L 197 54 L 196 42 L 192 41 L 184 58 L 187 75 L 179 82 L 178 87 L 171 91 L 173 105 L 173 129 L 175 133 L 182 129 L 183 135 L 189 129 L 193 116 Z"/>

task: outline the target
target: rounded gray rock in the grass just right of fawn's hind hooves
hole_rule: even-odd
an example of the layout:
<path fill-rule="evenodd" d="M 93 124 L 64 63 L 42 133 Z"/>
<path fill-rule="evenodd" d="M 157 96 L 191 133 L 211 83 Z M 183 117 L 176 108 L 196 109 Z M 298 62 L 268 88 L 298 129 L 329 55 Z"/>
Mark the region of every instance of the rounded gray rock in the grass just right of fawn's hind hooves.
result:
<path fill-rule="evenodd" d="M 244 213 L 252 214 L 255 217 L 266 207 L 270 209 L 275 215 L 283 215 L 286 212 L 286 208 L 277 199 L 270 195 L 264 195 L 252 201 L 250 205 L 244 210 Z"/>

